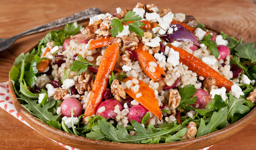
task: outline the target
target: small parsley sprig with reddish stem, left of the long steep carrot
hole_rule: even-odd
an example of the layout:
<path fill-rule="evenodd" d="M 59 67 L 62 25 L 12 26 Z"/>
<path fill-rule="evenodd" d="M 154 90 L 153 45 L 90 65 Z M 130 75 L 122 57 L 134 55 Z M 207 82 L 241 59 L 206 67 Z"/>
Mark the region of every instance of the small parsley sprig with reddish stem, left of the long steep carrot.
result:
<path fill-rule="evenodd" d="M 73 61 L 72 65 L 70 66 L 70 71 L 73 71 L 73 72 L 77 72 L 77 75 L 80 75 L 82 72 L 85 72 L 88 68 L 88 65 L 91 65 L 91 66 L 97 66 L 97 65 L 94 65 L 90 62 L 88 62 L 88 60 L 85 60 L 81 55 L 78 55 L 77 58 L 80 60 L 75 60 Z"/>

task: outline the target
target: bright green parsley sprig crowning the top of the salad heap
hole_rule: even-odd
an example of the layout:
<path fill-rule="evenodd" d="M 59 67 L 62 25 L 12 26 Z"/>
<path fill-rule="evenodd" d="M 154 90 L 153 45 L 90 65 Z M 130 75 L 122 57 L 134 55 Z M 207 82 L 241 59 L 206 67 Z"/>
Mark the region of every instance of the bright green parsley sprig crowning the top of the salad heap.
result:
<path fill-rule="evenodd" d="M 132 11 L 127 12 L 125 17 L 122 18 L 121 20 L 113 19 L 110 24 L 110 26 L 113 27 L 110 30 L 111 36 L 114 37 L 118 35 L 118 33 L 121 33 L 122 30 L 124 30 L 123 24 L 127 24 L 129 26 L 130 31 L 133 31 L 138 36 L 144 37 L 144 30 L 141 27 L 143 27 L 145 24 L 143 22 L 140 22 L 141 19 L 142 18 L 140 17 L 140 15 L 135 15 L 135 12 L 132 12 Z M 128 23 L 128 21 L 134 21 L 134 22 Z"/>

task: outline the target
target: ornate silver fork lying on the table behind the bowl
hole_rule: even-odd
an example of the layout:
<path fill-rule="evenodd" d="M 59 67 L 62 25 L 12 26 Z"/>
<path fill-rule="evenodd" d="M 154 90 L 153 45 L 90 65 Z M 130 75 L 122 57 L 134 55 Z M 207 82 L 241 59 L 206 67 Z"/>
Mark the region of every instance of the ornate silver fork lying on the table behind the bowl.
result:
<path fill-rule="evenodd" d="M 74 15 L 70 15 L 69 17 L 61 18 L 54 22 L 51 22 L 51 23 L 48 23 L 45 25 L 41 25 L 38 27 L 34 27 L 30 30 L 26 30 L 26 31 L 19 33 L 18 35 L 13 36 L 11 38 L 8 38 L 8 39 L 0 38 L 0 51 L 6 50 L 7 48 L 9 48 L 13 44 L 13 42 L 15 42 L 18 38 L 20 38 L 22 36 L 27 36 L 27 35 L 30 35 L 33 33 L 38 33 L 38 32 L 42 32 L 45 30 L 53 29 L 55 27 L 60 27 L 67 23 L 72 23 L 75 21 L 87 19 L 87 18 L 90 18 L 91 16 L 98 15 L 99 13 L 101 13 L 101 10 L 98 8 L 95 8 L 95 7 L 90 8 L 90 9 L 85 9 L 81 12 L 75 13 Z"/>

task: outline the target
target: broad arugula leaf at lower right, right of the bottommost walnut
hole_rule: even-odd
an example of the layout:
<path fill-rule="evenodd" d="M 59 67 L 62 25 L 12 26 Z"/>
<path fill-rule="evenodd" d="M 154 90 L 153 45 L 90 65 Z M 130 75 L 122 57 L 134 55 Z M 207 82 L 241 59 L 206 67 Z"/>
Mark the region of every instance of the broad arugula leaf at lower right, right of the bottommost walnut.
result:
<path fill-rule="evenodd" d="M 198 128 L 196 137 L 207 135 L 211 132 L 217 131 L 218 127 L 223 128 L 227 123 L 228 108 L 221 108 L 218 112 L 213 112 L 210 122 L 205 125 L 204 119 L 201 118 L 201 122 Z"/>

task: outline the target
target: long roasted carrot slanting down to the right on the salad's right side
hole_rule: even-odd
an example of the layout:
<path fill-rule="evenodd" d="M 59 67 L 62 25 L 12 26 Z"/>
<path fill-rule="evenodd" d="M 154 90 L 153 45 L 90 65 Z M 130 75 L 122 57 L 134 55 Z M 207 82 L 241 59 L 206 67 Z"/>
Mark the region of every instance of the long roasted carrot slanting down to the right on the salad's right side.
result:
<path fill-rule="evenodd" d="M 179 52 L 180 62 L 188 66 L 189 70 L 195 72 L 198 76 L 202 76 L 204 78 L 215 78 L 216 84 L 219 88 L 225 87 L 228 92 L 231 90 L 231 87 L 234 84 L 222 75 L 220 75 L 210 66 L 205 64 L 203 61 L 199 60 L 197 57 L 181 48 L 177 48 L 175 46 L 170 46 L 170 48 L 173 48 L 174 51 Z"/>

